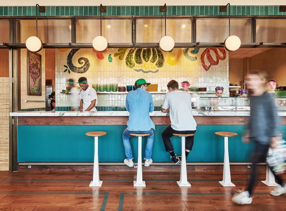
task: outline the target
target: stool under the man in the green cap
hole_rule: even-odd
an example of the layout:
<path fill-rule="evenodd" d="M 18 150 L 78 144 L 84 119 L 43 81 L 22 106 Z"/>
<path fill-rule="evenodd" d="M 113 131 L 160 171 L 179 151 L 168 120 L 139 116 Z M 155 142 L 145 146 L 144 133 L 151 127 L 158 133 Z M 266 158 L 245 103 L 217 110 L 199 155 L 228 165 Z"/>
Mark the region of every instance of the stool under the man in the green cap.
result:
<path fill-rule="evenodd" d="M 142 176 L 142 137 L 151 135 L 151 133 L 129 133 L 132 136 L 138 137 L 138 161 L 137 161 L 137 178 L 133 181 L 135 187 L 146 187 L 145 181 Z"/>

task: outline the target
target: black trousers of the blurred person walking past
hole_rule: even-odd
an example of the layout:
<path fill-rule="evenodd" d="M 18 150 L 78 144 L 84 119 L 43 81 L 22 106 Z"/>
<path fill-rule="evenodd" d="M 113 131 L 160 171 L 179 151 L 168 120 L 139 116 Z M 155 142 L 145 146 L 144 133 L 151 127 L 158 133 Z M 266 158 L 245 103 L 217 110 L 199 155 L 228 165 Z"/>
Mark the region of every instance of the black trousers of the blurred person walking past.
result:
<path fill-rule="evenodd" d="M 250 195 L 252 194 L 252 191 L 253 191 L 253 188 L 254 188 L 255 182 L 256 182 L 257 163 L 261 163 L 261 162 L 264 163 L 265 162 L 268 148 L 269 148 L 269 145 L 264 145 L 264 144 L 261 144 L 261 143 L 255 141 L 255 151 L 253 154 L 252 166 L 251 166 L 252 170 L 250 173 L 250 181 L 249 181 L 249 185 L 247 188 Z M 269 168 L 271 169 L 272 173 L 274 174 L 275 179 L 278 182 L 278 184 L 282 186 L 284 184 L 283 180 L 273 172 L 273 167 L 269 166 Z"/>

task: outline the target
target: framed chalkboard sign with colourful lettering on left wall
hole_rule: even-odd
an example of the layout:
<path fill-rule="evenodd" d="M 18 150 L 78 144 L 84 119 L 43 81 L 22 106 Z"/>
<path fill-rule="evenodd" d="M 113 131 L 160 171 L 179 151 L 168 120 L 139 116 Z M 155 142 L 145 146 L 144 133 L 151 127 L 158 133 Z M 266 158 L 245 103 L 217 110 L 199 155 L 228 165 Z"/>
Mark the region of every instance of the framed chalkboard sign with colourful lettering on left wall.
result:
<path fill-rule="evenodd" d="M 42 56 L 28 50 L 28 95 L 42 96 Z"/>

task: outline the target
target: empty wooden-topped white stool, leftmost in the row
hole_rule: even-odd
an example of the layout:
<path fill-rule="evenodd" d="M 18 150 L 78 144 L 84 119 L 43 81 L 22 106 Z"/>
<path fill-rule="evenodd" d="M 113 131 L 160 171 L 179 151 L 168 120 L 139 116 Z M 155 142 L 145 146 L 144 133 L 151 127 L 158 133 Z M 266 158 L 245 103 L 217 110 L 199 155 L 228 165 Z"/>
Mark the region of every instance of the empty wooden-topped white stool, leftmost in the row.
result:
<path fill-rule="evenodd" d="M 93 167 L 93 179 L 89 186 L 101 186 L 102 181 L 99 180 L 99 167 L 98 167 L 98 137 L 106 135 L 106 132 L 94 131 L 86 133 L 87 136 L 94 137 L 94 167 Z"/>

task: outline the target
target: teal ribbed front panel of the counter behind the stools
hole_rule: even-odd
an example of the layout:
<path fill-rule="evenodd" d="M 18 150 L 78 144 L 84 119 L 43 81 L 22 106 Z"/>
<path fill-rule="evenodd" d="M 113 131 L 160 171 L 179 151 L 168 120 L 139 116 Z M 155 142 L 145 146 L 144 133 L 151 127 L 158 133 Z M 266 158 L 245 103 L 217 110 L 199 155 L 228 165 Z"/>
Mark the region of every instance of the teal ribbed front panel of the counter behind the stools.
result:
<path fill-rule="evenodd" d="M 165 151 L 161 134 L 166 125 L 156 125 L 154 131 L 154 162 L 170 163 L 170 154 Z M 214 135 L 217 131 L 231 131 L 238 136 L 229 138 L 230 162 L 249 162 L 253 143 L 242 142 L 245 125 L 198 125 L 194 146 L 187 162 L 221 162 L 224 158 L 223 137 Z M 283 131 L 285 125 L 281 126 Z M 85 133 L 104 131 L 99 137 L 99 162 L 123 162 L 126 158 L 122 133 L 126 125 L 18 125 L 18 162 L 93 162 L 94 139 Z M 53 136 L 47 134 L 53 133 Z M 181 153 L 180 137 L 172 137 L 177 155 Z M 138 141 L 130 138 L 134 161 L 138 157 Z M 142 160 L 146 138 L 142 140 Z"/>

